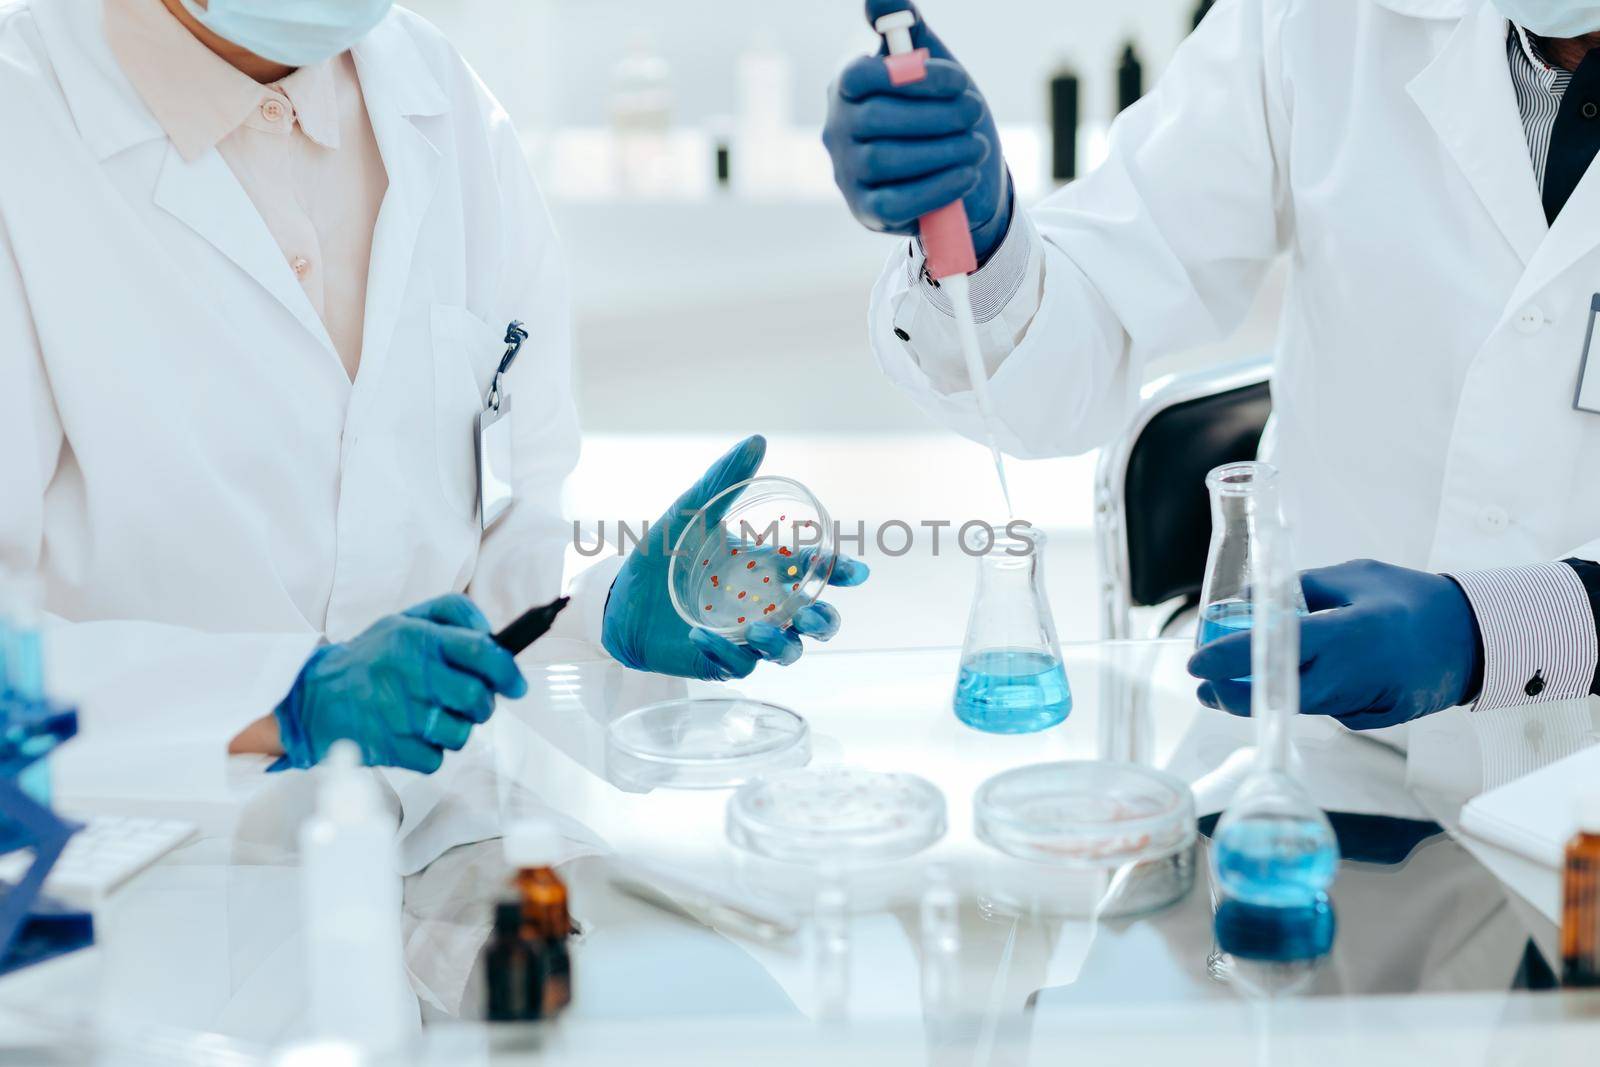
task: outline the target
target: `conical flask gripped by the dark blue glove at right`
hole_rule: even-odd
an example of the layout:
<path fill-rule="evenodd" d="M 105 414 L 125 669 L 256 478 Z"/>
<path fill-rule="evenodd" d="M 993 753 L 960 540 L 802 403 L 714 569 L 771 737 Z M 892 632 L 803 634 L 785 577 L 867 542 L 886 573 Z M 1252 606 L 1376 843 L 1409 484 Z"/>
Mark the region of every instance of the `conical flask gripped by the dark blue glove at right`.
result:
<path fill-rule="evenodd" d="M 1258 523 L 1278 522 L 1278 472 L 1272 464 L 1224 464 L 1206 475 L 1211 491 L 1211 549 L 1200 585 L 1200 627 L 1195 646 L 1237 630 L 1248 630 L 1256 589 Z M 1306 595 L 1294 584 L 1296 609 L 1306 614 Z"/>

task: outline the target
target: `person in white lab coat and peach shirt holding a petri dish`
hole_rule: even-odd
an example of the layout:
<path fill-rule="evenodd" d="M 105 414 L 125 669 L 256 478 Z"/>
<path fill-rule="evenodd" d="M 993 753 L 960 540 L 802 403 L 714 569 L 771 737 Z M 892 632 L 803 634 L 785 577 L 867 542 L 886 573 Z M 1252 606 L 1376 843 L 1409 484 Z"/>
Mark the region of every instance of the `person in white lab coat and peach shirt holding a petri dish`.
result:
<path fill-rule="evenodd" d="M 526 689 L 490 624 L 560 592 L 571 536 L 568 285 L 507 115 L 390 0 L 21 0 L 0 158 L 0 565 L 53 643 L 110 677 L 184 649 L 162 704 L 234 752 L 437 769 Z M 514 493 L 486 534 L 480 416 Z M 590 571 L 566 630 L 728 678 L 838 625 L 691 633 L 666 566 Z"/>

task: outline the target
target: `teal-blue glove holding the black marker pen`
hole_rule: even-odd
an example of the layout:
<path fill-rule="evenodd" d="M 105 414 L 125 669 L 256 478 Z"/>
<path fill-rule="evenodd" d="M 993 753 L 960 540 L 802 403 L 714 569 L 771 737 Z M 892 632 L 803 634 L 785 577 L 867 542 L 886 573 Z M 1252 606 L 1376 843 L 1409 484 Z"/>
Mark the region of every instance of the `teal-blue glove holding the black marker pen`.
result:
<path fill-rule="evenodd" d="M 272 769 L 312 766 L 347 739 L 368 766 L 432 774 L 445 749 L 459 750 L 488 720 L 496 693 L 526 691 L 517 661 L 470 600 L 429 600 L 312 653 L 274 712 L 285 757 Z"/>

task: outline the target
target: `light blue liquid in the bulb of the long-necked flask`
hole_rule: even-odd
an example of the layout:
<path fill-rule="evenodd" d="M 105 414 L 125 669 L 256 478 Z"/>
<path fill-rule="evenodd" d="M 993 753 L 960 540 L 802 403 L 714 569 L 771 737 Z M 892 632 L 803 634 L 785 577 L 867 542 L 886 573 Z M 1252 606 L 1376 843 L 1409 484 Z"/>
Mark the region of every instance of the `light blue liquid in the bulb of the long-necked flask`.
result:
<path fill-rule="evenodd" d="M 1339 846 L 1314 819 L 1240 819 L 1211 848 L 1222 891 L 1258 907 L 1312 907 L 1339 872 Z"/>

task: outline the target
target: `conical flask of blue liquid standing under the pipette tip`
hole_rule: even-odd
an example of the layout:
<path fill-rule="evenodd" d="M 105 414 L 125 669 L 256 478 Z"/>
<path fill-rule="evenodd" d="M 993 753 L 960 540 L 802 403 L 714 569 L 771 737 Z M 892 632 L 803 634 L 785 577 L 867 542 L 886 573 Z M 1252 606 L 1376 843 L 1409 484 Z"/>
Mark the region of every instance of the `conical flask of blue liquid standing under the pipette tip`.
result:
<path fill-rule="evenodd" d="M 955 717 L 994 734 L 1054 726 L 1072 710 L 1056 621 L 1045 597 L 1045 534 L 997 531 L 978 558 L 978 592 L 962 645 Z"/>

